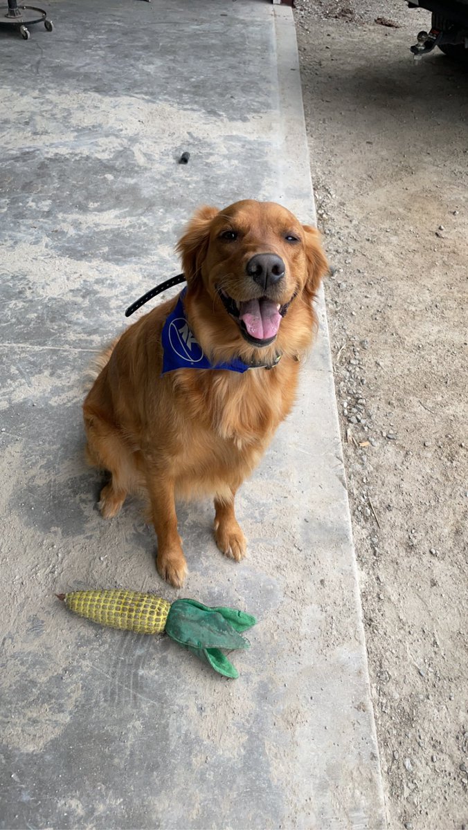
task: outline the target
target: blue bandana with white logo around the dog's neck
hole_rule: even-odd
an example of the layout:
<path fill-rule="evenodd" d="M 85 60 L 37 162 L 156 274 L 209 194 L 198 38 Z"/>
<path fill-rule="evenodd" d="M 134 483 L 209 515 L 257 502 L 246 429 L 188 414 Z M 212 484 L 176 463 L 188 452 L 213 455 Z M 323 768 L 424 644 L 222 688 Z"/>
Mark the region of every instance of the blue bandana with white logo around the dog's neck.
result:
<path fill-rule="evenodd" d="M 190 329 L 185 317 L 184 297 L 187 289 L 181 292 L 174 311 L 165 321 L 161 340 L 164 350 L 162 373 L 174 372 L 175 369 L 225 369 L 229 372 L 246 372 L 250 367 L 234 358 L 229 364 L 210 364 L 205 357 L 200 343 Z"/>

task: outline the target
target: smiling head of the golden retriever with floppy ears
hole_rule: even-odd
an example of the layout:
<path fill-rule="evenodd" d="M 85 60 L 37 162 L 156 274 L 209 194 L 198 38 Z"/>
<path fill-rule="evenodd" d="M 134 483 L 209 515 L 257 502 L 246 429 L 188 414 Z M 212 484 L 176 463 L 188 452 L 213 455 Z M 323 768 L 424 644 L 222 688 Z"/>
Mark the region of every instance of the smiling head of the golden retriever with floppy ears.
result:
<path fill-rule="evenodd" d="M 240 344 L 249 344 L 250 351 L 280 344 L 284 329 L 291 333 L 286 320 L 304 301 L 312 328 L 311 302 L 327 261 L 315 228 L 301 225 L 281 205 L 244 200 L 221 211 L 201 207 L 178 251 L 188 299 L 204 296 L 215 330 L 222 325 L 238 351 L 245 353 Z M 214 337 L 213 330 L 212 345 Z"/>

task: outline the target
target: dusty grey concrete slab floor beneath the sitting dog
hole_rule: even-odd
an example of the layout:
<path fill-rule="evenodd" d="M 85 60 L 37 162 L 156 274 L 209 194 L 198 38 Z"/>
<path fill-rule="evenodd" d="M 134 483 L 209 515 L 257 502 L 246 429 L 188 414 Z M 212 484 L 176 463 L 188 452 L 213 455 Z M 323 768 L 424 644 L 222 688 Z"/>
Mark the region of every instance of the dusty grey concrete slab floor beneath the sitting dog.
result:
<path fill-rule="evenodd" d="M 86 366 L 178 272 L 200 203 L 314 217 L 290 10 L 262 0 L 58 0 L 0 32 L 2 828 L 382 828 L 328 333 L 239 498 L 249 559 L 181 505 L 180 595 L 254 613 L 237 681 L 54 593 L 179 595 L 140 505 L 106 523 L 82 457 Z M 12 71 L 12 66 L 15 70 Z M 183 150 L 190 163 L 176 164 Z"/>

